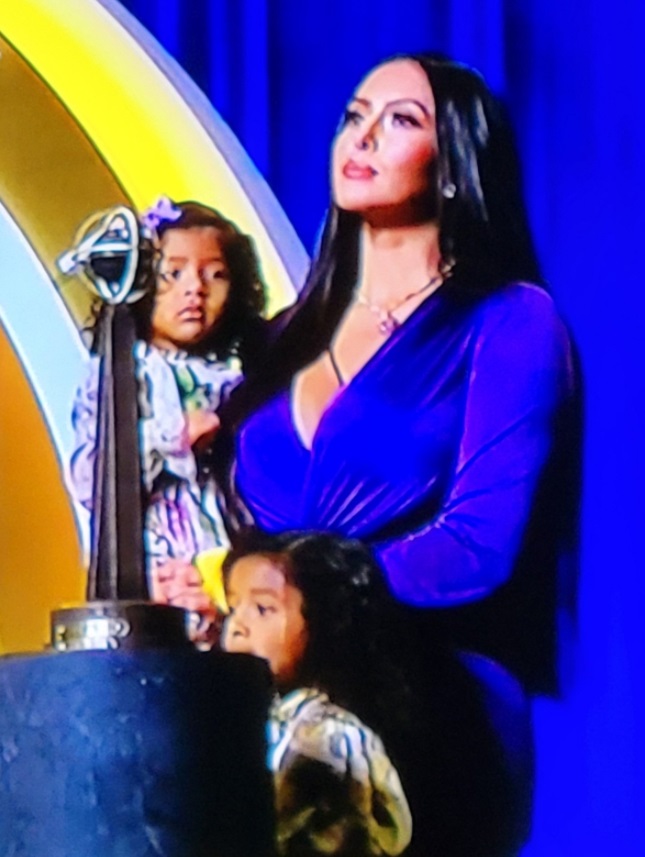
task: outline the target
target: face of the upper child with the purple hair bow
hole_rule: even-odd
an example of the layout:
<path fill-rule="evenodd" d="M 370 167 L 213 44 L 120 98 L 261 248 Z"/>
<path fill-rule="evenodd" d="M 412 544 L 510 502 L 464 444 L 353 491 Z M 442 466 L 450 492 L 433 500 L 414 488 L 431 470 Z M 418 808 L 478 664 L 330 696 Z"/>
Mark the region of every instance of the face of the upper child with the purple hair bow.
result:
<path fill-rule="evenodd" d="M 231 287 L 217 229 L 168 229 L 152 310 L 151 341 L 160 348 L 196 345 L 212 330 Z"/>

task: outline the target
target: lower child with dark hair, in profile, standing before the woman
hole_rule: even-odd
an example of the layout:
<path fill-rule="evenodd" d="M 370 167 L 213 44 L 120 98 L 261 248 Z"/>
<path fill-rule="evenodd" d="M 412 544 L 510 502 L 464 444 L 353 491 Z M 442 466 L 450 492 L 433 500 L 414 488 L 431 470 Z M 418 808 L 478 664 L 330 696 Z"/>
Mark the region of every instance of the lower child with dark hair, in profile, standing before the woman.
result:
<path fill-rule="evenodd" d="M 370 554 L 322 534 L 253 534 L 226 558 L 224 580 L 223 647 L 265 658 L 278 690 L 268 729 L 278 853 L 401 854 L 412 819 L 378 732 L 389 593 Z"/>

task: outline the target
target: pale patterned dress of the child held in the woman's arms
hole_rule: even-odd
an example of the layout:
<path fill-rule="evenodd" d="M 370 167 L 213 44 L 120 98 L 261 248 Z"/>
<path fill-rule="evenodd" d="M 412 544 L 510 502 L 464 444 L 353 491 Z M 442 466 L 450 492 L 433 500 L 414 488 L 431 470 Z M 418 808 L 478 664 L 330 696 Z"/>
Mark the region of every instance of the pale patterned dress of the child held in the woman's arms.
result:
<path fill-rule="evenodd" d="M 168 559 L 191 561 L 227 546 L 208 454 L 191 448 L 185 414 L 214 412 L 241 380 L 239 360 L 167 352 L 137 342 L 141 470 L 146 492 L 144 541 L 149 568 Z M 91 357 L 72 410 L 75 448 L 70 477 L 76 499 L 92 511 L 97 451 L 99 358 Z"/>

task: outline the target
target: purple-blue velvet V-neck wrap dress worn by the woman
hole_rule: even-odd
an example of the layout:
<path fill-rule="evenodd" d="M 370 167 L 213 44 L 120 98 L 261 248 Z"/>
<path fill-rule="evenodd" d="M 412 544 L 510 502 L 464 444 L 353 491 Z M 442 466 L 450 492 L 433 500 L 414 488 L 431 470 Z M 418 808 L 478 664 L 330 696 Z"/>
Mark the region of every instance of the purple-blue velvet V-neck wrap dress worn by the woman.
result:
<path fill-rule="evenodd" d="M 448 284 L 339 390 L 311 450 L 289 390 L 254 413 L 237 438 L 238 490 L 270 532 L 363 539 L 401 600 L 448 608 L 435 621 L 459 645 L 552 689 L 558 569 L 576 535 L 576 392 L 544 290 L 476 299 Z"/>

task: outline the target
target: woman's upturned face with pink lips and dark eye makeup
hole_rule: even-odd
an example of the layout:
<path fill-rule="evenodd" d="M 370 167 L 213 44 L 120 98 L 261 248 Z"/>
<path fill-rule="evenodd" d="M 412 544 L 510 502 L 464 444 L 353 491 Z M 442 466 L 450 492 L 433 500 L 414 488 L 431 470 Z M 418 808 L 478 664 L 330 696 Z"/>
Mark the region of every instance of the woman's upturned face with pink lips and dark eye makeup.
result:
<path fill-rule="evenodd" d="M 413 60 L 379 66 L 358 87 L 332 150 L 336 205 L 376 222 L 431 216 L 435 102 Z"/>

